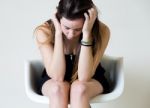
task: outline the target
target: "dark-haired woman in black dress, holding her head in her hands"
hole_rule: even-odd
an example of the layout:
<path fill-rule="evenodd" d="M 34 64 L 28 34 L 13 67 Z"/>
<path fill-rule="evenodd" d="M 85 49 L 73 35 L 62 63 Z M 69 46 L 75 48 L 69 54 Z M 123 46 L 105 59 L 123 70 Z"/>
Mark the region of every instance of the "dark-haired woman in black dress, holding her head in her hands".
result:
<path fill-rule="evenodd" d="M 44 71 L 40 92 L 50 108 L 89 108 L 89 101 L 109 91 L 100 60 L 109 41 L 92 0 L 60 0 L 52 19 L 35 36 Z"/>

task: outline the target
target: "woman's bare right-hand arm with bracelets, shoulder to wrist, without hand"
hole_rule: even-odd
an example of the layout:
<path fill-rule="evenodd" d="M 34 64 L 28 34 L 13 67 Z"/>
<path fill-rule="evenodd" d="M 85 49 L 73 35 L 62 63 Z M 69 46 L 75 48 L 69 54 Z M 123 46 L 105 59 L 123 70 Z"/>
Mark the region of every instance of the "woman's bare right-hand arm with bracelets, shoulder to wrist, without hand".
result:
<path fill-rule="evenodd" d="M 102 46 L 99 53 L 99 59 L 97 60 L 96 65 L 94 66 L 94 57 L 92 55 L 92 47 L 82 46 L 79 56 L 79 64 L 78 64 L 78 77 L 81 81 L 88 81 L 94 75 L 95 70 L 100 63 L 100 60 L 105 52 L 105 49 L 108 45 L 108 41 L 110 38 L 110 31 L 107 26 L 102 24 Z M 82 39 L 84 41 L 88 41 L 88 39 Z"/>

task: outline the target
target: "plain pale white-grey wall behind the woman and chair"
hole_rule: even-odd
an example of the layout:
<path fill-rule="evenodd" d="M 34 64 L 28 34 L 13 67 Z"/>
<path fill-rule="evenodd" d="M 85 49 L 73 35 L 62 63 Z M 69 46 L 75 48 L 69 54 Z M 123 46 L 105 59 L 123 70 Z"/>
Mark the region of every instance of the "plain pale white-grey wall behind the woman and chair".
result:
<path fill-rule="evenodd" d="M 124 57 L 125 88 L 117 100 L 93 108 L 150 108 L 150 1 L 94 0 L 111 30 L 106 54 Z M 29 100 L 24 60 L 41 59 L 32 35 L 58 0 L 0 0 L 0 108 L 48 108 Z"/>

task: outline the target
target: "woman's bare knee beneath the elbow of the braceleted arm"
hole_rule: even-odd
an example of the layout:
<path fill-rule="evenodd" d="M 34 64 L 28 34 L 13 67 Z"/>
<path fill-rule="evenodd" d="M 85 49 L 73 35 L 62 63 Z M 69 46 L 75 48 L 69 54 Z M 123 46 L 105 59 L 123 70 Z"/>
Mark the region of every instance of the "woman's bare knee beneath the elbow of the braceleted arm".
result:
<path fill-rule="evenodd" d="M 81 81 L 75 81 L 71 85 L 71 96 L 85 96 L 87 94 L 87 85 Z"/>

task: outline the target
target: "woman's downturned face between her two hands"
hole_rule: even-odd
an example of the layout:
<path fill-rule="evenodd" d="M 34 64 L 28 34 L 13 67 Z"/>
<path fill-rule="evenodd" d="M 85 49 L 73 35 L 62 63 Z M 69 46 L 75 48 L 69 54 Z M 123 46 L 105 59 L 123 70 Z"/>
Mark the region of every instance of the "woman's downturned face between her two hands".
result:
<path fill-rule="evenodd" d="M 82 33 L 83 24 L 83 18 L 79 18 L 76 20 L 68 20 L 62 17 L 60 20 L 62 32 L 68 40 L 72 40 L 80 36 L 80 34 Z"/>

